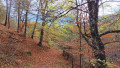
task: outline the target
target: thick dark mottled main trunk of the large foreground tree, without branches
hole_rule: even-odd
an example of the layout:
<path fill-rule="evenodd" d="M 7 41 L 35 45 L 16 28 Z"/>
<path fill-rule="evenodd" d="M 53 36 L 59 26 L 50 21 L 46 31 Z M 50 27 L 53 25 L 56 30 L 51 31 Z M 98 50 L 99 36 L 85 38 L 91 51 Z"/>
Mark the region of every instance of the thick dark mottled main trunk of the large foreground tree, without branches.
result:
<path fill-rule="evenodd" d="M 106 68 L 101 61 L 106 61 L 105 56 L 105 48 L 98 34 L 98 4 L 99 0 L 91 1 L 88 0 L 88 8 L 89 8 L 89 19 L 90 19 L 90 31 L 92 37 L 92 45 L 95 46 L 93 48 L 94 56 L 97 60 L 96 68 Z"/>

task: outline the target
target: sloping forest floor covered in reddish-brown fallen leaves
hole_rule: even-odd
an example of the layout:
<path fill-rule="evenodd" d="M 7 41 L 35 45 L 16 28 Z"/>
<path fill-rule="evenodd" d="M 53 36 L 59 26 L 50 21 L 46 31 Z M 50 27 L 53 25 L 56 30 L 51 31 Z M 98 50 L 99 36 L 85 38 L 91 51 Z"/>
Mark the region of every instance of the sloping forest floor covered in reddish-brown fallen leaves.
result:
<path fill-rule="evenodd" d="M 62 50 L 39 47 L 37 43 L 36 39 L 25 39 L 14 28 L 0 25 L 0 68 L 71 68 Z"/>

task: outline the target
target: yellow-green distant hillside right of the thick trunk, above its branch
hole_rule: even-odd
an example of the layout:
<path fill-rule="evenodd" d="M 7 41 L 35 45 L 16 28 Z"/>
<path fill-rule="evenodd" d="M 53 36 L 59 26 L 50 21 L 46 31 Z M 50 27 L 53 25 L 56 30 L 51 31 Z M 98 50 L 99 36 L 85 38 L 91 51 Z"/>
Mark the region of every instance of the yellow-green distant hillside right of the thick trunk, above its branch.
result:
<path fill-rule="evenodd" d="M 99 17 L 99 32 L 103 33 L 108 30 L 120 29 L 120 11 Z"/>

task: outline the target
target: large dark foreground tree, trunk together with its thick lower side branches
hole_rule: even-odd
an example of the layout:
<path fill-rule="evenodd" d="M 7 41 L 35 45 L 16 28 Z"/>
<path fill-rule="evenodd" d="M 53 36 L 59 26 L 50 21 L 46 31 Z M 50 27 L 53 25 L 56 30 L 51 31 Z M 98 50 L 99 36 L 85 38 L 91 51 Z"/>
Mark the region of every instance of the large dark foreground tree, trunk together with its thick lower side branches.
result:
<path fill-rule="evenodd" d="M 111 30 L 106 31 L 102 34 L 98 32 L 98 8 L 99 0 L 87 0 L 88 10 L 89 10 L 89 27 L 90 27 L 90 36 L 91 41 L 87 39 L 85 35 L 82 34 L 82 37 L 86 40 L 88 45 L 92 47 L 95 59 L 97 60 L 96 68 L 106 68 L 106 56 L 105 56 L 105 47 L 100 37 L 109 33 L 118 33 L 120 30 Z"/>

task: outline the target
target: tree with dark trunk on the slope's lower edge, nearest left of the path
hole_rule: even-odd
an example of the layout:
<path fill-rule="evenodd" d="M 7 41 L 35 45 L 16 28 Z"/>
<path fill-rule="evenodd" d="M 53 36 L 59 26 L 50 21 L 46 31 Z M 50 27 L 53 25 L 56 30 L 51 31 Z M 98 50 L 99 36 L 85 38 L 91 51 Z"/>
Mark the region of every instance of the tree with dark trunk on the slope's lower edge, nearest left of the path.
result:
<path fill-rule="evenodd" d="M 40 41 L 38 43 L 39 46 L 42 46 L 45 25 L 48 22 L 54 22 L 56 20 L 56 18 L 54 18 L 54 17 L 52 18 L 52 16 L 55 15 L 54 14 L 55 8 L 51 10 L 50 6 L 49 6 L 49 4 L 52 4 L 52 3 L 53 3 L 53 0 L 50 0 L 50 1 L 49 0 L 40 0 L 42 26 L 41 26 L 41 31 L 40 31 Z"/>

